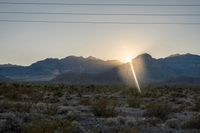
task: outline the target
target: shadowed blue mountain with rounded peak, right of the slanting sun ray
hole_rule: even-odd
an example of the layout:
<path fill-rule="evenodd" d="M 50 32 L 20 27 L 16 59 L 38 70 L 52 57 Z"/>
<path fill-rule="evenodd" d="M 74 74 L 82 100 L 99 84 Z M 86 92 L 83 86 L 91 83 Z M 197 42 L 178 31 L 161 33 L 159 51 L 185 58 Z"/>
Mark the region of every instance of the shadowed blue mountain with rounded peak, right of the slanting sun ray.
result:
<path fill-rule="evenodd" d="M 155 59 L 149 54 L 142 54 L 133 59 L 133 64 L 139 80 L 145 83 L 167 82 L 181 77 L 190 77 L 190 79 L 197 80 L 200 77 L 200 56 L 198 55 L 177 54 Z M 125 66 L 128 68 L 127 65 Z M 175 81 L 172 80 L 171 82 Z"/>

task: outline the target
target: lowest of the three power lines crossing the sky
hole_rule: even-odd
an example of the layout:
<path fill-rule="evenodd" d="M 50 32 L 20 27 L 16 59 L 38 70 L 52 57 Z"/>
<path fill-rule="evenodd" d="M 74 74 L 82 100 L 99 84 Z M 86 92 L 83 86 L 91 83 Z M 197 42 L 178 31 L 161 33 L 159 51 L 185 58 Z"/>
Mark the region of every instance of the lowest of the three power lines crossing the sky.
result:
<path fill-rule="evenodd" d="M 6 20 L 0 22 L 19 23 L 60 23 L 60 24 L 125 24 L 125 25 L 200 25 L 192 22 L 112 22 L 112 21 L 48 21 L 48 20 Z"/>

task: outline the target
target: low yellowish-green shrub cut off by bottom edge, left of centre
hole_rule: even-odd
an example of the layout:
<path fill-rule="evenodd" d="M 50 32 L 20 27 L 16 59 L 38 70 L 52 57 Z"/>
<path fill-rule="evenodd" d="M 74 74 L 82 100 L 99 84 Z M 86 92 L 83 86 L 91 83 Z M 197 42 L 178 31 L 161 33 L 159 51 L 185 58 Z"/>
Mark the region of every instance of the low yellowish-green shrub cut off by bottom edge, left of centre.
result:
<path fill-rule="evenodd" d="M 42 121 L 33 120 L 22 128 L 22 133 L 71 133 L 73 126 L 70 121 Z"/>

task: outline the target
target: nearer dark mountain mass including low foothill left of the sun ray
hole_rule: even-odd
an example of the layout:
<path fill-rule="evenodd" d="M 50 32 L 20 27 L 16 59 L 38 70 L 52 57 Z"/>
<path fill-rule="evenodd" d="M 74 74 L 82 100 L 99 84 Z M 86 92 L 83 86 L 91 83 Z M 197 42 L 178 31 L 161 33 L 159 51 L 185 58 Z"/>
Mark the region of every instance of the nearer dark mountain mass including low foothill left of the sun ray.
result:
<path fill-rule="evenodd" d="M 132 60 L 140 83 L 195 83 L 200 84 L 200 56 L 176 54 L 155 59 L 149 54 L 142 54 Z M 105 81 L 103 80 L 105 79 Z M 52 81 L 62 83 L 128 83 L 134 84 L 130 64 L 122 64 L 104 73 L 66 73 Z"/>

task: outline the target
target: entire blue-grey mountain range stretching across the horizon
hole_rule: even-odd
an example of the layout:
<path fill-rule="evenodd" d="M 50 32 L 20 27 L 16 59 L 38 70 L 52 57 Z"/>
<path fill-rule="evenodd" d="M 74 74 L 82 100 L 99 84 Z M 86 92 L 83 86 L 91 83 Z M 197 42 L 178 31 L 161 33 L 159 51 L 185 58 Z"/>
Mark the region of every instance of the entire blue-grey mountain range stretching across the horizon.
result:
<path fill-rule="evenodd" d="M 155 59 L 142 54 L 132 60 L 139 82 L 200 84 L 200 56 L 172 55 Z M 68 56 L 30 66 L 0 65 L 0 81 L 51 81 L 68 84 L 133 82 L 130 65 L 117 60 Z M 9 80 L 10 79 L 10 80 Z"/>

